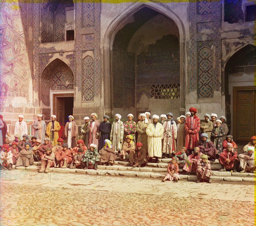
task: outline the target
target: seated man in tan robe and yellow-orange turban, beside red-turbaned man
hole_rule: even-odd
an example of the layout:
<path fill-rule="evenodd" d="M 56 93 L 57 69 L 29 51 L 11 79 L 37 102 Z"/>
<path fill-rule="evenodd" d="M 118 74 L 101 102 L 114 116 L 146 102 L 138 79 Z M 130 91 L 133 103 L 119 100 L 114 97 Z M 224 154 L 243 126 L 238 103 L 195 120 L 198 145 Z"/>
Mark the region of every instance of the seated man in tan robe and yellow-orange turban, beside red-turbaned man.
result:
<path fill-rule="evenodd" d="M 130 134 L 126 136 L 125 142 L 123 143 L 120 160 L 129 160 L 130 165 L 133 166 L 134 154 L 135 143 L 132 135 Z"/>

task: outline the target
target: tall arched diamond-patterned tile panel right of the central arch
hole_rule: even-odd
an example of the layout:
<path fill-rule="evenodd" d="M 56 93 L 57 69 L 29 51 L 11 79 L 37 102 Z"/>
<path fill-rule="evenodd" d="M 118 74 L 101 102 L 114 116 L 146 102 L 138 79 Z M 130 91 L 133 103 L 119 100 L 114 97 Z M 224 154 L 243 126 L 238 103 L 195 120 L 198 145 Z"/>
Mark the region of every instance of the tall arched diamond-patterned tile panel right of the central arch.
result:
<path fill-rule="evenodd" d="M 213 97 L 212 51 L 203 47 L 198 52 L 198 98 Z"/>

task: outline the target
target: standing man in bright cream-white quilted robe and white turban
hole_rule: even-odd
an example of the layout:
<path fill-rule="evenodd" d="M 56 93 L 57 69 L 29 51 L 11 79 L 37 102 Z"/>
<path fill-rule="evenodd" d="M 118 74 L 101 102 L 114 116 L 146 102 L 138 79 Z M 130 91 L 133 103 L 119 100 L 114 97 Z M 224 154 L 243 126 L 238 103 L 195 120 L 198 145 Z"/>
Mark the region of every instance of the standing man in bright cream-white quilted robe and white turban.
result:
<path fill-rule="evenodd" d="M 158 158 L 162 157 L 162 137 L 163 126 L 158 122 L 159 116 L 153 115 L 153 123 L 149 123 L 146 129 L 148 135 L 148 157 L 152 162 L 152 157 L 156 158 L 156 163 L 159 163 Z"/>

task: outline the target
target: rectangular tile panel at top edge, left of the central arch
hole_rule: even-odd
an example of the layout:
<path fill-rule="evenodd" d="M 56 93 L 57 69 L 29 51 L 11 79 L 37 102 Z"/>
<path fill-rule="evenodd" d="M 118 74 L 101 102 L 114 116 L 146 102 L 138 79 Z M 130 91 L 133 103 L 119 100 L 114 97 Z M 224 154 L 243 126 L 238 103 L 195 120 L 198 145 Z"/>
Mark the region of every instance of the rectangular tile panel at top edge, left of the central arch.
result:
<path fill-rule="evenodd" d="M 83 27 L 93 27 L 95 23 L 95 3 L 94 1 L 83 1 Z"/>

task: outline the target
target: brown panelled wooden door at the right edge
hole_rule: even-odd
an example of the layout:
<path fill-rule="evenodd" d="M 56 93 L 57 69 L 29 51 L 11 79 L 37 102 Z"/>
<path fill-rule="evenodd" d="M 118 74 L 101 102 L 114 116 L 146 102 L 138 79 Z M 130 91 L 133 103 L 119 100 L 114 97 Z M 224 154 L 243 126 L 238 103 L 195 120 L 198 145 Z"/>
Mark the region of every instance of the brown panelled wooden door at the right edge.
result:
<path fill-rule="evenodd" d="M 234 138 L 249 141 L 256 134 L 256 87 L 233 88 Z"/>

